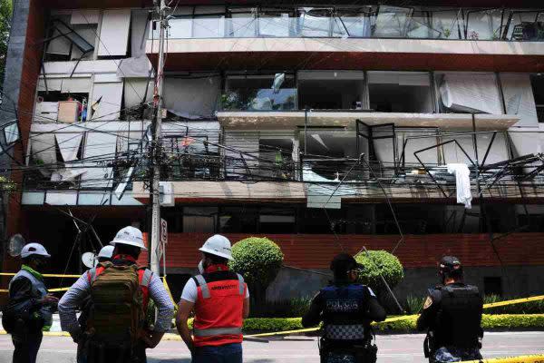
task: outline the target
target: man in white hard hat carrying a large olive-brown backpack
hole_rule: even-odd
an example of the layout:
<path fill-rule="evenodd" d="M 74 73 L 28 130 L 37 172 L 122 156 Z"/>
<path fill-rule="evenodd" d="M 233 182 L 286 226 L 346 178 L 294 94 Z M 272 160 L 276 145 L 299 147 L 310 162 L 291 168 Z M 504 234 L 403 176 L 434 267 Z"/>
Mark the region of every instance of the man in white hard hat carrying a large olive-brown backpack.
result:
<path fill-rule="evenodd" d="M 174 307 L 159 276 L 136 263 L 147 250 L 140 230 L 125 227 L 110 244 L 112 261 L 85 272 L 59 302 L 61 326 L 75 342 L 88 340 L 82 354 L 87 363 L 142 363 L 145 349 L 155 348 L 170 329 Z M 92 316 L 83 331 L 75 312 L 88 296 Z M 152 331 L 144 326 L 150 299 L 159 309 Z"/>

